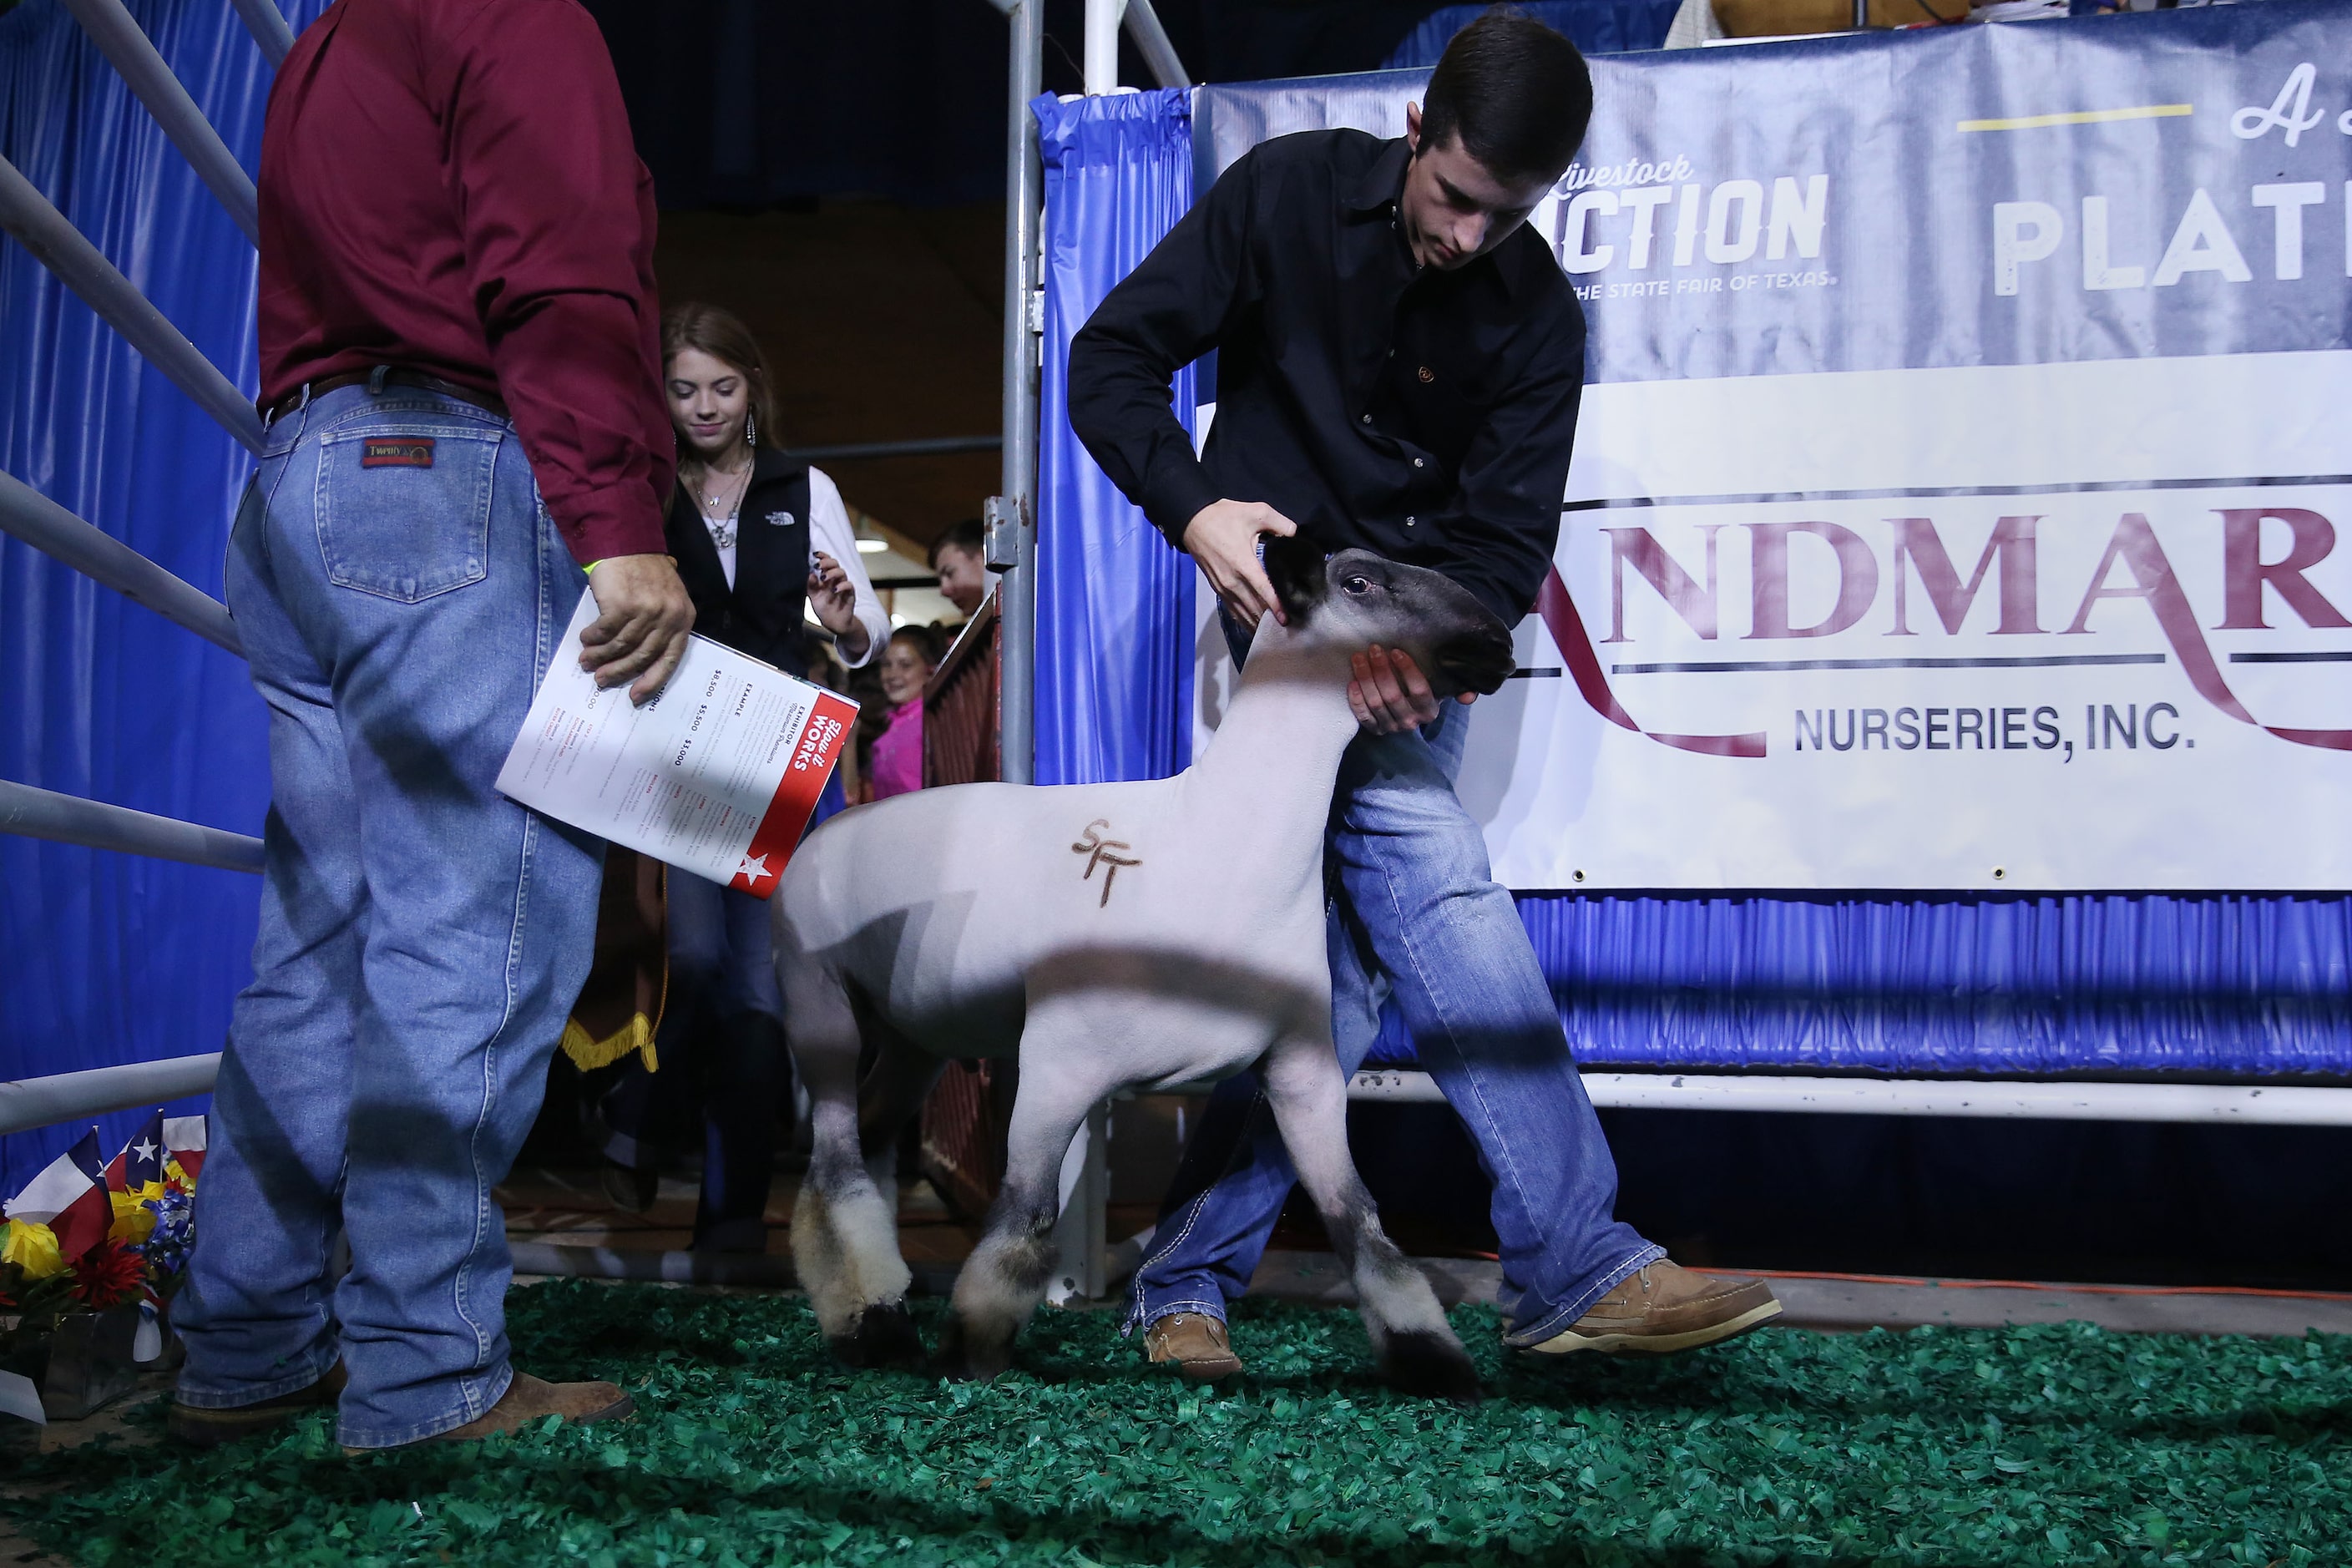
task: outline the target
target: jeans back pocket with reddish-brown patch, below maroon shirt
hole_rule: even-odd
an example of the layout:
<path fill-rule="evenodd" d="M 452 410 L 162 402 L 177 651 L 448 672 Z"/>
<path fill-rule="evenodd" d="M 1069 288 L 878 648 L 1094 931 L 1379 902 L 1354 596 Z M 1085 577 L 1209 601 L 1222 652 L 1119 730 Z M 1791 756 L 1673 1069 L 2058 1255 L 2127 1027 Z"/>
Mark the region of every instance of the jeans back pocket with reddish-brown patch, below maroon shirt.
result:
<path fill-rule="evenodd" d="M 503 425 L 381 418 L 334 430 L 318 454 L 318 550 L 327 581 L 416 604 L 489 574 Z"/>

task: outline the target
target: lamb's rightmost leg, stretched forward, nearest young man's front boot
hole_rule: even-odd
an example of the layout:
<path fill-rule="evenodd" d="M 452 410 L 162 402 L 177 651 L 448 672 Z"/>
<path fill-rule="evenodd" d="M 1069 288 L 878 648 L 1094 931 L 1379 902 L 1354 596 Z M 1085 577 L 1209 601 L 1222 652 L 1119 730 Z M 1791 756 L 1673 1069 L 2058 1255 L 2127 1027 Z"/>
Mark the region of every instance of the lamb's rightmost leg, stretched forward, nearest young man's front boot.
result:
<path fill-rule="evenodd" d="M 1261 1070 L 1275 1124 L 1291 1152 L 1341 1267 L 1355 1281 L 1364 1331 L 1381 1375 L 1406 1394 L 1477 1403 L 1477 1368 L 1430 1281 L 1381 1229 L 1381 1215 L 1348 1157 L 1348 1081 L 1329 1037 L 1291 1037 L 1265 1053 Z"/>

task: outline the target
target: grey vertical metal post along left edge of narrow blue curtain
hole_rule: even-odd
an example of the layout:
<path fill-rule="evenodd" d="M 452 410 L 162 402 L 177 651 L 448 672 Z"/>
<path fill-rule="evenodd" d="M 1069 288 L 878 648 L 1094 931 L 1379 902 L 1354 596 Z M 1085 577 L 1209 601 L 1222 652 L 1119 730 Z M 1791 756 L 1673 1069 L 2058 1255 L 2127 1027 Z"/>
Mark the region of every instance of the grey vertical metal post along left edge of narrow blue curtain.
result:
<path fill-rule="evenodd" d="M 1011 12 L 1011 68 L 1004 125 L 1004 494 L 990 512 L 990 567 L 997 588 L 1000 724 L 997 755 L 1007 783 L 1037 778 L 1037 216 L 1044 188 L 1030 99 L 1044 82 L 1044 0 Z M 1009 536 L 1009 538 L 1007 538 Z"/>

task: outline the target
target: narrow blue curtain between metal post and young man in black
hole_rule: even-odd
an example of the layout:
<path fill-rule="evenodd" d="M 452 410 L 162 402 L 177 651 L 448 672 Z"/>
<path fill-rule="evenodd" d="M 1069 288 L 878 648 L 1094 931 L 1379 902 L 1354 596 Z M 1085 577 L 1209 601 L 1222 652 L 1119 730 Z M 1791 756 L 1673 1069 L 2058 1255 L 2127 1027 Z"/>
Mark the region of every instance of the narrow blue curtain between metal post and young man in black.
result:
<path fill-rule="evenodd" d="M 1070 430 L 1070 336 L 1192 205 L 1190 94 L 1047 94 L 1030 108 L 1044 153 L 1037 783 L 1167 778 L 1192 759 L 1192 562 Z M 1192 409 L 1183 369 L 1185 430 Z"/>

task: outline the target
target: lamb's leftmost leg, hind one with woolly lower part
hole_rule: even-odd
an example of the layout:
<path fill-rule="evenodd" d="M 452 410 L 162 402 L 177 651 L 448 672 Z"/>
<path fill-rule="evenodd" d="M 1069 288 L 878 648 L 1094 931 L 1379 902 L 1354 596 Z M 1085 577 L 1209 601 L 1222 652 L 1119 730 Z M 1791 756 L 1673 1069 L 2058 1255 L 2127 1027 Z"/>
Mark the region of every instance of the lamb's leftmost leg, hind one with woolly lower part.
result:
<path fill-rule="evenodd" d="M 786 943 L 779 943 L 786 947 Z M 906 1312 L 913 1284 L 898 1213 L 866 1171 L 858 1140 L 858 1023 L 840 976 L 779 952 L 793 1060 L 809 1086 L 809 1173 L 793 1206 L 793 1267 L 833 1352 L 851 1366 L 913 1361 L 922 1340 Z"/>

